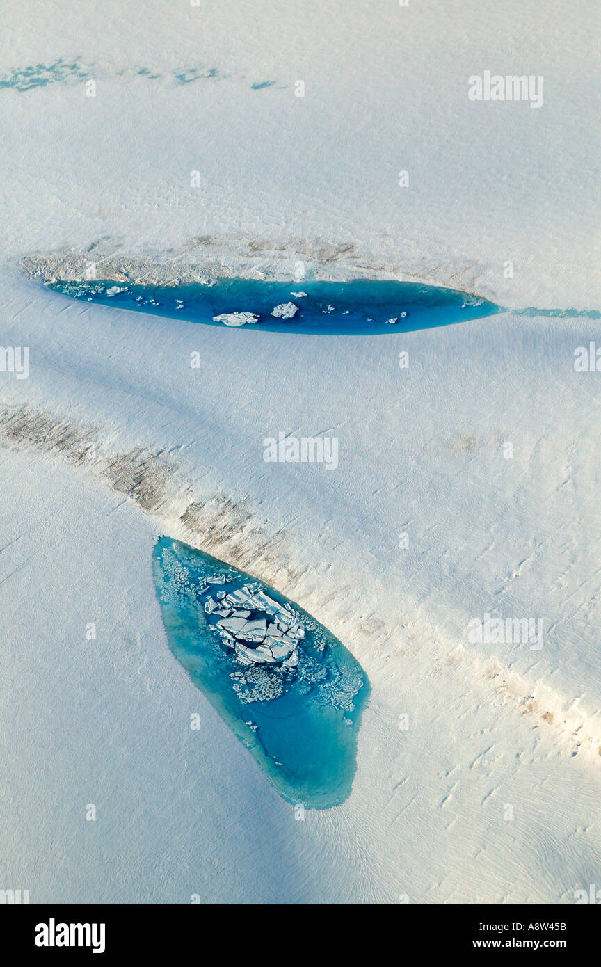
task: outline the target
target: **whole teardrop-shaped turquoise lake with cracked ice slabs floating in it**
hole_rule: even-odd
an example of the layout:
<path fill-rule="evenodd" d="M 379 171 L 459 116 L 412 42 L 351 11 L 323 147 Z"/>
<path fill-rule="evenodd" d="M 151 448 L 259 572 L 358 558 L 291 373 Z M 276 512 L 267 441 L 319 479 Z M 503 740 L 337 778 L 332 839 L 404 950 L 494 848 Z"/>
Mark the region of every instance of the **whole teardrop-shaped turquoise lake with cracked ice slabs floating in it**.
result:
<path fill-rule="evenodd" d="M 277 792 L 343 803 L 369 691 L 358 661 L 298 604 L 183 542 L 157 542 L 154 573 L 173 655 Z"/>

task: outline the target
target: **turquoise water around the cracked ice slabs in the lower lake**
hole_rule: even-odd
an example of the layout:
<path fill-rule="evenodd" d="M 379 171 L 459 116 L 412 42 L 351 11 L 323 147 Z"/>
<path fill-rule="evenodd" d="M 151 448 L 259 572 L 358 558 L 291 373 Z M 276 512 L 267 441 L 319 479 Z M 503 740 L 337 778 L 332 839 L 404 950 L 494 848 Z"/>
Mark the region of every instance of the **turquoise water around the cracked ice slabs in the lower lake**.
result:
<path fill-rule="evenodd" d="M 157 542 L 154 573 L 169 648 L 277 792 L 307 808 L 343 803 L 369 691 L 358 661 L 298 604 L 258 582 L 274 601 L 294 608 L 305 637 L 297 668 L 245 669 L 212 630 L 204 602 L 215 586 L 207 591 L 203 581 L 225 575 L 231 583 L 219 587 L 230 591 L 256 578 L 170 538 Z"/>

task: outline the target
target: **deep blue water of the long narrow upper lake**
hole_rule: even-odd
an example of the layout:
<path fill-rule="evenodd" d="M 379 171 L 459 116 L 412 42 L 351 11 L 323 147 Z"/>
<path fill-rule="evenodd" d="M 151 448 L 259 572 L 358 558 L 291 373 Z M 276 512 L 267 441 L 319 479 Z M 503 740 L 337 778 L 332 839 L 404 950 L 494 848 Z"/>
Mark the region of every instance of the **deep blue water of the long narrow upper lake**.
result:
<path fill-rule="evenodd" d="M 417 282 L 266 282 L 222 278 L 214 284 L 140 285 L 107 280 L 53 282 L 51 288 L 76 299 L 114 308 L 186 319 L 220 326 L 215 315 L 253 312 L 259 322 L 244 329 L 286 333 L 366 334 L 430 329 L 490 315 L 500 309 L 454 289 Z M 115 291 L 124 289 L 124 291 Z M 108 293 L 111 292 L 109 295 Z M 306 293 L 303 296 L 293 293 Z M 276 306 L 292 302 L 299 310 L 291 320 L 272 316 Z M 402 313 L 406 313 L 405 316 Z M 395 324 L 387 320 L 396 318 Z"/>

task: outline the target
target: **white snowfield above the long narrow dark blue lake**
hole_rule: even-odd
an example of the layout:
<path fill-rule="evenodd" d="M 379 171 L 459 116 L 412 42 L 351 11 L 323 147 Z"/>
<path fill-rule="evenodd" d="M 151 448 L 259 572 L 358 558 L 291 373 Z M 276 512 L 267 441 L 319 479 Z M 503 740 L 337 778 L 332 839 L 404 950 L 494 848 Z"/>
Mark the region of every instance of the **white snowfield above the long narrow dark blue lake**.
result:
<path fill-rule="evenodd" d="M 300 263 L 598 308 L 595 16 L 593 0 L 8 5 L 2 78 L 62 58 L 96 91 L 76 71 L 0 90 L 4 250 L 48 275 Z M 544 75 L 545 103 L 470 101 L 483 70 Z"/>

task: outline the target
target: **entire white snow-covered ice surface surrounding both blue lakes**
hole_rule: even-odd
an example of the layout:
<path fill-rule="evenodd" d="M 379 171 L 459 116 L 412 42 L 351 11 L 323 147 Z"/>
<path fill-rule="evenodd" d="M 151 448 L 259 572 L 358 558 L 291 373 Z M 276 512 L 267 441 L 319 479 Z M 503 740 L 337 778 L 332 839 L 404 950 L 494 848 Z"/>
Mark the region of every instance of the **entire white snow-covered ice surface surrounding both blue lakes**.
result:
<path fill-rule="evenodd" d="M 29 348 L 30 374 L 0 371 L 0 886 L 36 903 L 569 903 L 598 883 L 601 374 L 573 366 L 598 320 L 300 337 L 18 274 L 402 275 L 598 309 L 594 15 L 3 12 L 1 341 Z M 38 64 L 59 79 L 19 90 Z M 470 102 L 489 68 L 544 75 L 543 106 Z M 336 472 L 265 463 L 280 430 L 335 435 Z M 372 694 L 343 806 L 297 822 L 173 658 L 159 534 L 265 580 L 357 656 Z M 544 647 L 472 644 L 488 613 L 543 619 Z"/>

